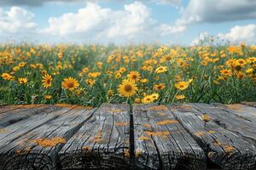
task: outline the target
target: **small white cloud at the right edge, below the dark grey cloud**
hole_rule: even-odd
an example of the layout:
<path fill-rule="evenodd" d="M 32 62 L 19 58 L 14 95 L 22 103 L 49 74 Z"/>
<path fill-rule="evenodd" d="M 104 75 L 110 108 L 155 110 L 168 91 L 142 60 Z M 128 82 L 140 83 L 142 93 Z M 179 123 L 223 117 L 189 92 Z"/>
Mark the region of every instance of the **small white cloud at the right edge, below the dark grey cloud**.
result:
<path fill-rule="evenodd" d="M 218 37 L 220 39 L 229 40 L 231 42 L 241 42 L 245 41 L 248 43 L 256 42 L 256 25 L 247 26 L 234 26 L 230 29 L 230 32 L 224 34 L 219 33 Z"/>

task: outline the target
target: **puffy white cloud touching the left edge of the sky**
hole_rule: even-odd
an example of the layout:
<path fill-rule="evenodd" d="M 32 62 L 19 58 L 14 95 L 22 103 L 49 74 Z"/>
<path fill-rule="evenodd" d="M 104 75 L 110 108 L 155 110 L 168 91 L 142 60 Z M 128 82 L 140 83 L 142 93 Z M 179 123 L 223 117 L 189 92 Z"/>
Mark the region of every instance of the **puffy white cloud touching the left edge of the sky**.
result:
<path fill-rule="evenodd" d="M 37 24 L 33 18 L 34 14 L 24 8 L 12 7 L 8 11 L 0 8 L 0 34 L 35 31 Z"/>

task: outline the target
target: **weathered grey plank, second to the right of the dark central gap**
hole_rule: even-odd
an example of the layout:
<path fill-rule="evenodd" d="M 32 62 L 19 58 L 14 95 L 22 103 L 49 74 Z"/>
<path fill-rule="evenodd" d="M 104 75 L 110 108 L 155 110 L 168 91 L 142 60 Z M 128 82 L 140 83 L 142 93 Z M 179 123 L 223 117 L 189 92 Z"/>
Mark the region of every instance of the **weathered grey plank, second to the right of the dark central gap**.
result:
<path fill-rule="evenodd" d="M 208 110 L 207 106 L 212 110 Z M 212 111 L 215 111 L 215 108 L 212 105 L 185 104 L 171 105 L 169 108 L 177 120 L 183 124 L 183 127 L 206 151 L 210 161 L 230 170 L 255 167 L 256 148 L 253 143 L 219 126 L 216 122 L 210 121 L 206 126 L 204 125 L 201 116 L 203 113 L 214 115 L 215 113 Z"/>

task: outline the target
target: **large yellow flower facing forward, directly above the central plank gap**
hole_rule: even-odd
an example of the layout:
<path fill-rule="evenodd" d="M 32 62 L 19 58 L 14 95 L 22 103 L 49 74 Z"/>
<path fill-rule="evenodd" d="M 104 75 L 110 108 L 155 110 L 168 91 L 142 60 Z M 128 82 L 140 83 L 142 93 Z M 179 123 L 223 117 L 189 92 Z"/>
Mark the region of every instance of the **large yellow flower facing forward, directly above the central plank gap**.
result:
<path fill-rule="evenodd" d="M 124 97 L 131 97 L 137 92 L 137 85 L 135 82 L 131 82 L 130 80 L 123 80 L 121 84 L 119 84 L 119 94 Z"/>

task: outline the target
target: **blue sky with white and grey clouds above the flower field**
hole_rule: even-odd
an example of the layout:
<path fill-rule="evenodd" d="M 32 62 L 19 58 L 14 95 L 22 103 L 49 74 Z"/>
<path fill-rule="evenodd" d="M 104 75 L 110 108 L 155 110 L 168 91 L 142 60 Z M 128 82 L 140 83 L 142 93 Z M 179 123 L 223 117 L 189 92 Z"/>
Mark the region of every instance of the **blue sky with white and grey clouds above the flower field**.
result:
<path fill-rule="evenodd" d="M 256 44 L 256 0 L 0 0 L 0 42 Z"/>

